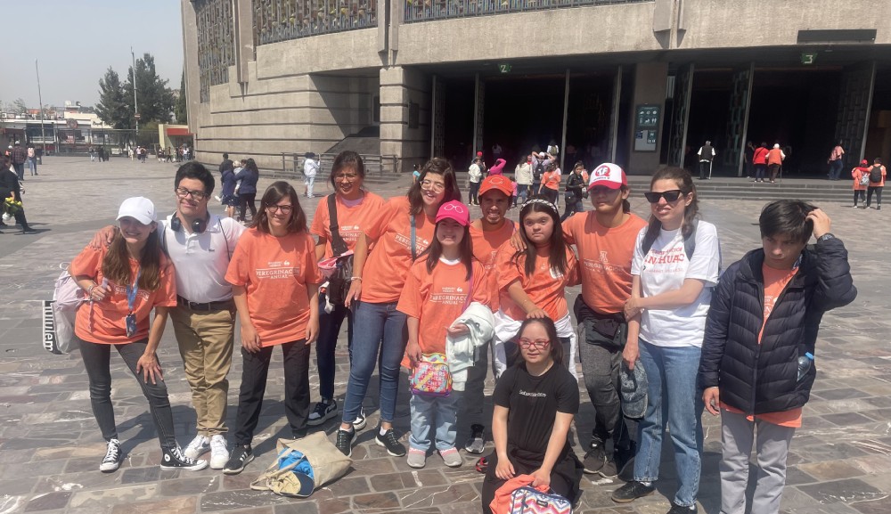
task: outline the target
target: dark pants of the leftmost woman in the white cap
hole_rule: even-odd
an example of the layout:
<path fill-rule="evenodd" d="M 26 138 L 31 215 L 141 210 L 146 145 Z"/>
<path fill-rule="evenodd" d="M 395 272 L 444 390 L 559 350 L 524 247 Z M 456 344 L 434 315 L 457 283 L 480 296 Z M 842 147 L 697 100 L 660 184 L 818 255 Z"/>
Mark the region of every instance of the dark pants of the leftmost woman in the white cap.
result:
<path fill-rule="evenodd" d="M 118 427 L 114 421 L 114 408 L 111 405 L 111 371 L 110 357 L 111 347 L 118 350 L 121 358 L 127 363 L 143 389 L 143 395 L 149 401 L 151 420 L 158 432 L 161 448 L 173 448 L 176 446 L 176 436 L 173 428 L 173 412 L 170 411 L 170 400 L 167 393 L 167 385 L 163 380 L 157 380 L 152 384 L 143 380 L 143 373 L 136 372 L 136 363 L 139 357 L 145 353 L 148 339 L 141 339 L 126 345 L 103 345 L 91 343 L 78 338 L 80 356 L 84 360 L 86 375 L 90 379 L 90 404 L 93 405 L 93 414 L 96 423 L 102 430 L 102 437 L 106 441 L 118 437 Z"/>

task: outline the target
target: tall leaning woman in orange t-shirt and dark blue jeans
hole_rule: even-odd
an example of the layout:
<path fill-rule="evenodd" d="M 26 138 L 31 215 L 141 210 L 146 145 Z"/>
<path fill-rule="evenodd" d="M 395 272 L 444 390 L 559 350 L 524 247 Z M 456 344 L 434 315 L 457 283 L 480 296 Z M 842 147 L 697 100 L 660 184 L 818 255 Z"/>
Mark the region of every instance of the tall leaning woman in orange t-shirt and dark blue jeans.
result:
<path fill-rule="evenodd" d="M 352 453 L 356 429 L 365 426 L 362 402 L 374 366 L 379 363 L 380 428 L 375 440 L 390 455 L 405 455 L 405 446 L 393 431 L 399 363 L 408 338 L 406 316 L 396 310 L 396 304 L 408 269 L 433 241 L 439 207 L 451 200 L 461 201 L 452 165 L 446 159 L 430 159 L 408 194 L 388 200 L 365 228 L 365 237 L 356 242 L 354 276 L 346 305 L 356 306 L 353 321 L 362 330 L 353 334 L 347 396 L 336 441 L 346 455 Z M 369 254 L 372 244 L 374 251 Z"/>

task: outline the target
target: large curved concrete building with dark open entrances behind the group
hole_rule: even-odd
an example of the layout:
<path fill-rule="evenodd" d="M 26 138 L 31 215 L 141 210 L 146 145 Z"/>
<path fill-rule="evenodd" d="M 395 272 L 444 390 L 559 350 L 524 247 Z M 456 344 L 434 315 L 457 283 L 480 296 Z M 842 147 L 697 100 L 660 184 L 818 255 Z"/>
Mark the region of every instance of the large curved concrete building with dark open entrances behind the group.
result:
<path fill-rule="evenodd" d="M 706 140 L 742 173 L 747 141 L 788 169 L 891 160 L 885 0 L 183 0 L 196 158 L 356 145 L 511 169 L 557 143 L 564 167 L 682 164 Z M 347 144 L 348 143 L 348 144 Z M 337 145 L 337 146 L 336 146 Z M 690 148 L 691 150 L 687 150 Z M 371 149 L 371 150 L 369 150 Z"/>

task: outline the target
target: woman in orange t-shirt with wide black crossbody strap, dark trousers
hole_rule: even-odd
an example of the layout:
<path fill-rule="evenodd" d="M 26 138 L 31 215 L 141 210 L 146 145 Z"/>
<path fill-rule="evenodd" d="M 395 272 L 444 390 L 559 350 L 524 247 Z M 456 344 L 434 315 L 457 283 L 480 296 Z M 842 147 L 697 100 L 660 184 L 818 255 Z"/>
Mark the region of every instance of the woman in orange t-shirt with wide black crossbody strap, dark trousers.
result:
<path fill-rule="evenodd" d="M 355 250 L 356 241 L 364 234 L 365 227 L 380 213 L 384 200 L 363 188 L 365 166 L 362 157 L 355 151 L 341 151 L 331 165 L 331 186 L 334 192 L 320 201 L 315 208 L 313 226 L 309 232 L 318 238 L 315 243 L 315 259 L 339 257 L 333 248 L 331 234 L 331 197 L 337 219 L 337 232 L 344 243 L 338 252 Z M 319 296 L 319 341 L 315 345 L 315 358 L 319 368 L 319 395 L 322 399 L 315 404 L 309 414 L 311 427 L 321 425 L 337 416 L 337 402 L 334 401 L 334 350 L 340 326 L 347 320 L 347 347 L 350 362 L 353 355 L 353 312 L 343 304 L 331 303 L 331 294 Z"/>

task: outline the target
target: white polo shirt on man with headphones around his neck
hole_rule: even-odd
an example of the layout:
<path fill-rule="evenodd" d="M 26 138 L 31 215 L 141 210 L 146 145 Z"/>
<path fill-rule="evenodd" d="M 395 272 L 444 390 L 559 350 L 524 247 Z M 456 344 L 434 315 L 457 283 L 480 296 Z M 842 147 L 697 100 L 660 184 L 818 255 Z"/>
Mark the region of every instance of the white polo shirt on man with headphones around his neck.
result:
<path fill-rule="evenodd" d="M 176 268 L 176 294 L 199 304 L 232 298 L 232 285 L 224 277 L 244 226 L 231 217 L 210 215 L 204 233 L 174 232 L 172 217 L 162 220 L 159 229 Z"/>

